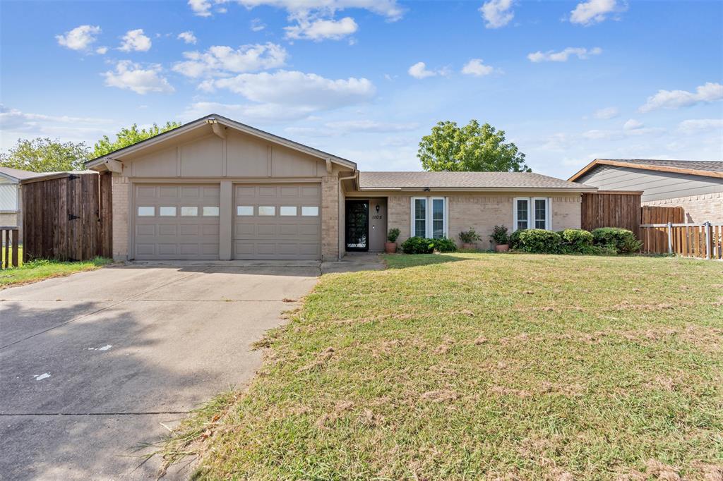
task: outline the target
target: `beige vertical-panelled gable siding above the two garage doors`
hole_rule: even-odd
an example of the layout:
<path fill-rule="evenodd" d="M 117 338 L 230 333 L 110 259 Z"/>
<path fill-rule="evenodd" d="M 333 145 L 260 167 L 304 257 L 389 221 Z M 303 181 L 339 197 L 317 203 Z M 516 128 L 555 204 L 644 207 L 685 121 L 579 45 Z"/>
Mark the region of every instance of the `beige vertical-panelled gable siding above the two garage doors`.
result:
<path fill-rule="evenodd" d="M 209 134 L 124 160 L 134 178 L 308 178 L 326 173 L 325 161 L 254 136 Z"/>

